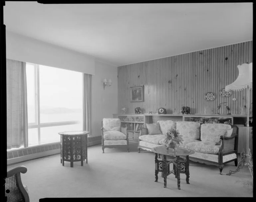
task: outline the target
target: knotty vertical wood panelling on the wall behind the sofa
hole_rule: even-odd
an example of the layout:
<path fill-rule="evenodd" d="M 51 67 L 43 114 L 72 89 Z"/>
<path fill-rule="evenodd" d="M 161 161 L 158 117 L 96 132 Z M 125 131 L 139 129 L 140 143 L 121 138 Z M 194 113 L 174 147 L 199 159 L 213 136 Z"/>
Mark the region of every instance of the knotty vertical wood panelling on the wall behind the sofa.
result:
<path fill-rule="evenodd" d="M 219 103 L 227 102 L 231 114 L 240 114 L 240 106 L 246 105 L 247 90 L 232 91 L 228 98 L 221 97 L 219 90 L 236 80 L 237 65 L 250 62 L 252 41 L 119 66 L 119 113 L 123 106 L 126 113 L 135 113 L 136 107 L 141 107 L 143 113 L 157 113 L 164 107 L 167 114 L 174 110 L 180 113 L 182 106 L 188 106 L 191 113 L 214 114 Z M 144 102 L 130 102 L 130 87 L 141 85 L 145 86 Z M 210 91 L 216 95 L 214 101 L 204 99 Z M 250 96 L 252 102 L 252 90 Z M 220 114 L 226 113 L 222 106 Z"/>

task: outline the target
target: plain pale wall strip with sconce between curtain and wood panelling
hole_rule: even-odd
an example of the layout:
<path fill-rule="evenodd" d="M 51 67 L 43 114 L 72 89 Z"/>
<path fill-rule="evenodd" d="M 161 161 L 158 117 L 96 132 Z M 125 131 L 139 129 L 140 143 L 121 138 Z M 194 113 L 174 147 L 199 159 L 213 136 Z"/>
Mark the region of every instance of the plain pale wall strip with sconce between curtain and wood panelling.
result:
<path fill-rule="evenodd" d="M 112 85 L 103 89 L 103 78 L 111 79 Z M 117 66 L 95 60 L 95 75 L 92 75 L 92 135 L 101 136 L 103 118 L 117 114 L 118 79 Z"/>

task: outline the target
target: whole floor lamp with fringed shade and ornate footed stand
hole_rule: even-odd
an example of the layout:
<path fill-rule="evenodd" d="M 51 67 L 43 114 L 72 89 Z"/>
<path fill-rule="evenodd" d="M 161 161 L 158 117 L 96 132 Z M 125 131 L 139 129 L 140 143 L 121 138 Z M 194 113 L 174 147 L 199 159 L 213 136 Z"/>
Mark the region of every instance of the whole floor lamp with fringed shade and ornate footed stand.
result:
<path fill-rule="evenodd" d="M 252 162 L 252 154 L 249 148 L 249 108 L 250 108 L 250 89 L 252 89 L 252 62 L 250 64 L 244 63 L 242 65 L 237 66 L 239 74 L 237 79 L 227 85 L 225 90 L 233 90 L 233 91 L 240 91 L 243 89 L 247 89 L 247 122 L 246 122 L 246 153 L 243 151 L 241 152 L 241 160 L 238 162 L 236 170 L 230 170 L 227 175 L 234 174 L 239 171 L 244 165 L 248 166 L 252 178 L 253 178 L 253 162 Z M 246 156 L 246 160 L 245 160 Z"/>

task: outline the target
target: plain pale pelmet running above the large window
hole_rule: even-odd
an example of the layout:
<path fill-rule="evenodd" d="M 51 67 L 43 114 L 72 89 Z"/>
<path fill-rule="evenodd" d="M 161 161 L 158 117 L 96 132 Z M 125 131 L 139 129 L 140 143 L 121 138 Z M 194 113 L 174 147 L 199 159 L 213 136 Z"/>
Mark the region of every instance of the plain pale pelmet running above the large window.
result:
<path fill-rule="evenodd" d="M 6 58 L 94 74 L 93 57 L 8 31 Z"/>

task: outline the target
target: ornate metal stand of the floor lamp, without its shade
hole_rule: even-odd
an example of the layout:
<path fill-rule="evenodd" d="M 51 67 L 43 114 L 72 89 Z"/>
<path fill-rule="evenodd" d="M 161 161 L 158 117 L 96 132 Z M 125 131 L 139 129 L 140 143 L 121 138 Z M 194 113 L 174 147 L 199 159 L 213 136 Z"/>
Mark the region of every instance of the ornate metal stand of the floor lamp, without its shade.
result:
<path fill-rule="evenodd" d="M 249 86 L 247 86 L 247 124 L 246 124 L 246 154 L 243 151 L 240 153 L 241 155 L 241 160 L 238 162 L 237 164 L 237 168 L 236 170 L 230 170 L 229 173 L 227 173 L 227 175 L 231 175 L 234 174 L 236 172 L 239 172 L 240 168 L 243 168 L 244 165 L 248 166 L 252 178 L 253 178 L 253 162 L 252 162 L 252 154 L 251 154 L 251 150 L 249 148 L 249 96 L 250 92 L 249 92 Z M 245 160 L 245 156 L 246 156 L 246 160 Z"/>

